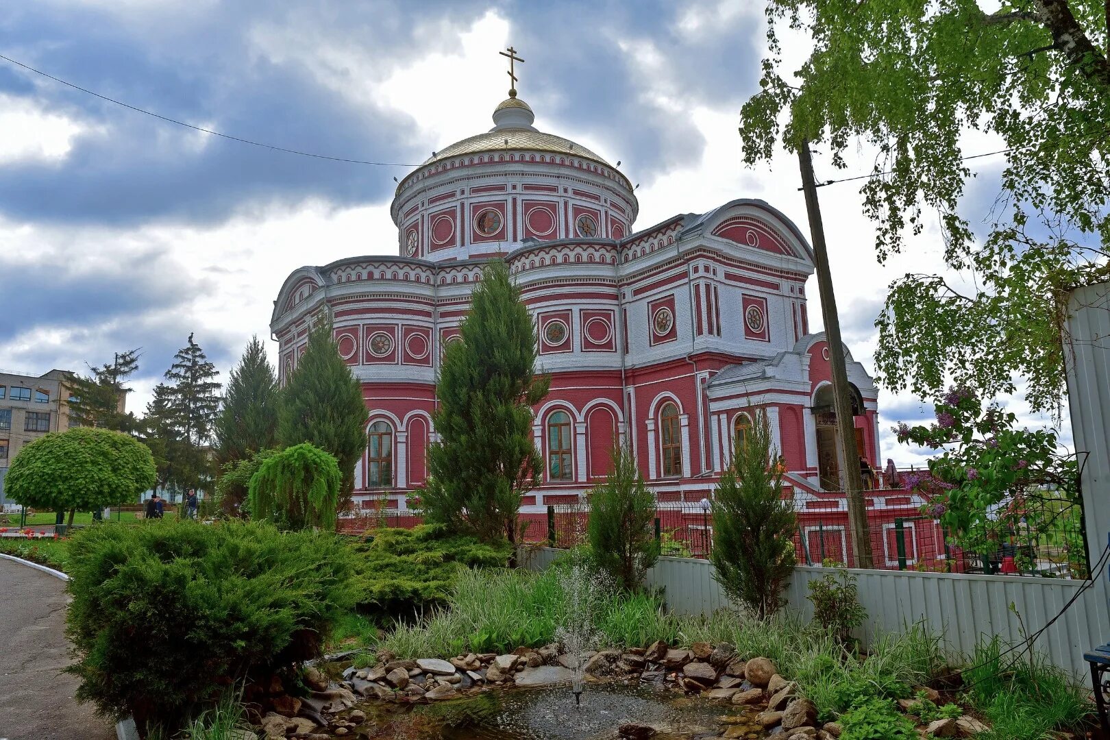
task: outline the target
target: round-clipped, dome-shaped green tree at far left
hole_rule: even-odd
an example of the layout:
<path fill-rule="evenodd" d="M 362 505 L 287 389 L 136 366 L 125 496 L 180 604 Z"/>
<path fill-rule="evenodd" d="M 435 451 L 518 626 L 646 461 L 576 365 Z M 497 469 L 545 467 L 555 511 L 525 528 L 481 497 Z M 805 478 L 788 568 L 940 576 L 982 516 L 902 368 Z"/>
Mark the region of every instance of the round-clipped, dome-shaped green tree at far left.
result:
<path fill-rule="evenodd" d="M 154 485 L 154 458 L 134 437 L 77 427 L 36 439 L 11 462 L 4 491 L 52 511 L 91 511 L 133 500 Z"/>

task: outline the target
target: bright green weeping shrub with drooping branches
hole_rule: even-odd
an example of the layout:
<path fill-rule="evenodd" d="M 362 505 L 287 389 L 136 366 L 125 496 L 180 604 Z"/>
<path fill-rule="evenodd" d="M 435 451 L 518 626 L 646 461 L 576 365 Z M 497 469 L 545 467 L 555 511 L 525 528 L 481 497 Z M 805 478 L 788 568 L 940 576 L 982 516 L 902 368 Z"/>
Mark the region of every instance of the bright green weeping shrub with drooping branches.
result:
<path fill-rule="evenodd" d="M 324 450 L 302 443 L 268 456 L 251 477 L 251 516 L 282 529 L 335 529 L 340 466 Z"/>

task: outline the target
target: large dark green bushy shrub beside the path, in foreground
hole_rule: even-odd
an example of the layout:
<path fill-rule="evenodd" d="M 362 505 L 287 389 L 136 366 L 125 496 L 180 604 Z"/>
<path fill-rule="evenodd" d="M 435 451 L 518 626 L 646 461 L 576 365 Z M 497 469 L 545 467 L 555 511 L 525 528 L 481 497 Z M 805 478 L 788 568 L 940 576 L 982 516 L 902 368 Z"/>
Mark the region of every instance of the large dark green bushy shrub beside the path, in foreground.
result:
<path fill-rule="evenodd" d="M 69 546 L 77 698 L 172 734 L 221 689 L 314 657 L 355 600 L 351 549 L 261 523 L 90 527 Z"/>

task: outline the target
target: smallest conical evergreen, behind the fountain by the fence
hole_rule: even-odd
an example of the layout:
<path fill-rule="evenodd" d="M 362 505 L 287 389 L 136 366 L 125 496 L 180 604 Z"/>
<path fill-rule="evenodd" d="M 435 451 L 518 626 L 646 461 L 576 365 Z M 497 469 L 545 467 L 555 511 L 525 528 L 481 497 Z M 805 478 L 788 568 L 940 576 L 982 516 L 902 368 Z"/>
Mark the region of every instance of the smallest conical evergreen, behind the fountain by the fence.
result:
<path fill-rule="evenodd" d="M 630 448 L 613 450 L 613 472 L 589 491 L 592 560 L 625 589 L 639 588 L 659 557 L 655 494 L 644 485 Z"/>

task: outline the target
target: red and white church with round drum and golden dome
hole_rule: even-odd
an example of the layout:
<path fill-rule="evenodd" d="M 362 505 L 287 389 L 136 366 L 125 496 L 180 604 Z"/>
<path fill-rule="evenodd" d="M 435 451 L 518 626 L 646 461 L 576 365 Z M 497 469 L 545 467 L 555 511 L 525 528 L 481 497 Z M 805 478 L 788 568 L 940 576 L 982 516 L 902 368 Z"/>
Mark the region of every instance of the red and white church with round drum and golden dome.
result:
<path fill-rule="evenodd" d="M 632 446 L 660 501 L 699 501 L 760 418 L 796 494 L 838 490 L 830 348 L 809 332 L 814 256 L 798 227 L 749 199 L 638 227 L 628 179 L 538 131 L 515 91 L 493 120 L 401 180 L 397 254 L 301 267 L 274 302 L 282 379 L 326 312 L 362 382 L 355 501 L 404 509 L 427 479 L 442 349 L 494 259 L 521 286 L 552 377 L 534 409 L 544 477 L 525 511 L 577 501 L 616 443 Z M 857 448 L 878 467 L 877 388 L 847 359 Z"/>

